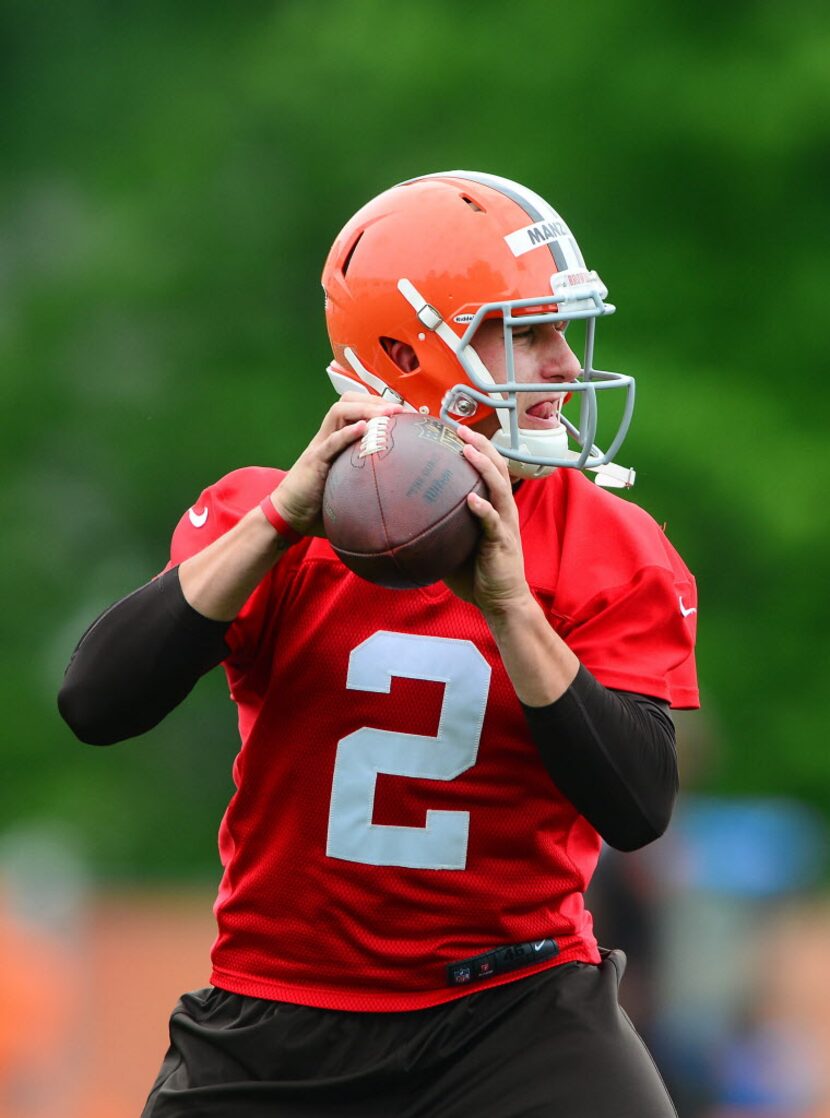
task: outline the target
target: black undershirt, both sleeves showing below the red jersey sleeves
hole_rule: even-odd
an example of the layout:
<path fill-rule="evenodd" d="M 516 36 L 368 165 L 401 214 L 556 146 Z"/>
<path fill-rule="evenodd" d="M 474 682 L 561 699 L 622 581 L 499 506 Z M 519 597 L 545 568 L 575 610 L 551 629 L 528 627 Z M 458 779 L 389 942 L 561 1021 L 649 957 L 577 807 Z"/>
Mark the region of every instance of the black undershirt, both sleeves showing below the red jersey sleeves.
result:
<path fill-rule="evenodd" d="M 144 733 L 227 656 L 228 624 L 197 613 L 172 568 L 83 635 L 58 695 L 63 718 L 89 745 Z M 581 667 L 560 699 L 524 711 L 548 774 L 610 845 L 636 850 L 662 834 L 678 787 L 666 703 L 610 691 Z"/>

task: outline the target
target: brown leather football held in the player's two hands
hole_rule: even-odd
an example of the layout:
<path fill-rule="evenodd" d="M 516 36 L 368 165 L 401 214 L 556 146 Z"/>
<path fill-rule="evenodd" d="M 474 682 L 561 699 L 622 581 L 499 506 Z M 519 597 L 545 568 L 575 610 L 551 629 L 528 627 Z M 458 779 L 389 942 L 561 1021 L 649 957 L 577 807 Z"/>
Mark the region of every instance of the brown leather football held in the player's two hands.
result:
<path fill-rule="evenodd" d="M 430 586 L 455 570 L 481 532 L 466 495 L 487 486 L 451 427 L 415 413 L 370 419 L 331 465 L 323 525 L 346 566 L 378 586 Z"/>

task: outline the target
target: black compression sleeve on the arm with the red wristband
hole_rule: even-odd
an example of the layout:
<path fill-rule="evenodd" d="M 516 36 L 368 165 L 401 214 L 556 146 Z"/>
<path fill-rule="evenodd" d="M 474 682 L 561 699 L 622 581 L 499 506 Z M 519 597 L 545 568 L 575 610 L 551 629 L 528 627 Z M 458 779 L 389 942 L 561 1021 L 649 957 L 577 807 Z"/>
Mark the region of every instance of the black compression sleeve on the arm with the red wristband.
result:
<path fill-rule="evenodd" d="M 173 567 L 116 601 L 82 636 L 58 695 L 62 716 L 93 746 L 144 733 L 227 656 L 228 625 L 189 605 Z"/>

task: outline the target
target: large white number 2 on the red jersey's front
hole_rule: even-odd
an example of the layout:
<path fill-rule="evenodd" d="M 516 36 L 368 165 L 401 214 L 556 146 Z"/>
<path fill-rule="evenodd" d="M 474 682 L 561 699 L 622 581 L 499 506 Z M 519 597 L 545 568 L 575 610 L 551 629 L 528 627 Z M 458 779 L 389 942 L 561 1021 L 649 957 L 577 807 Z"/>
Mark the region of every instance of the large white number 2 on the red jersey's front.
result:
<path fill-rule="evenodd" d="M 365 726 L 340 739 L 326 853 L 369 865 L 463 870 L 469 812 L 427 809 L 423 827 L 372 823 L 375 786 L 378 773 L 454 780 L 475 764 L 490 665 L 470 641 L 381 629 L 352 650 L 346 685 L 388 694 L 394 675 L 444 684 L 437 733 L 430 738 Z"/>

